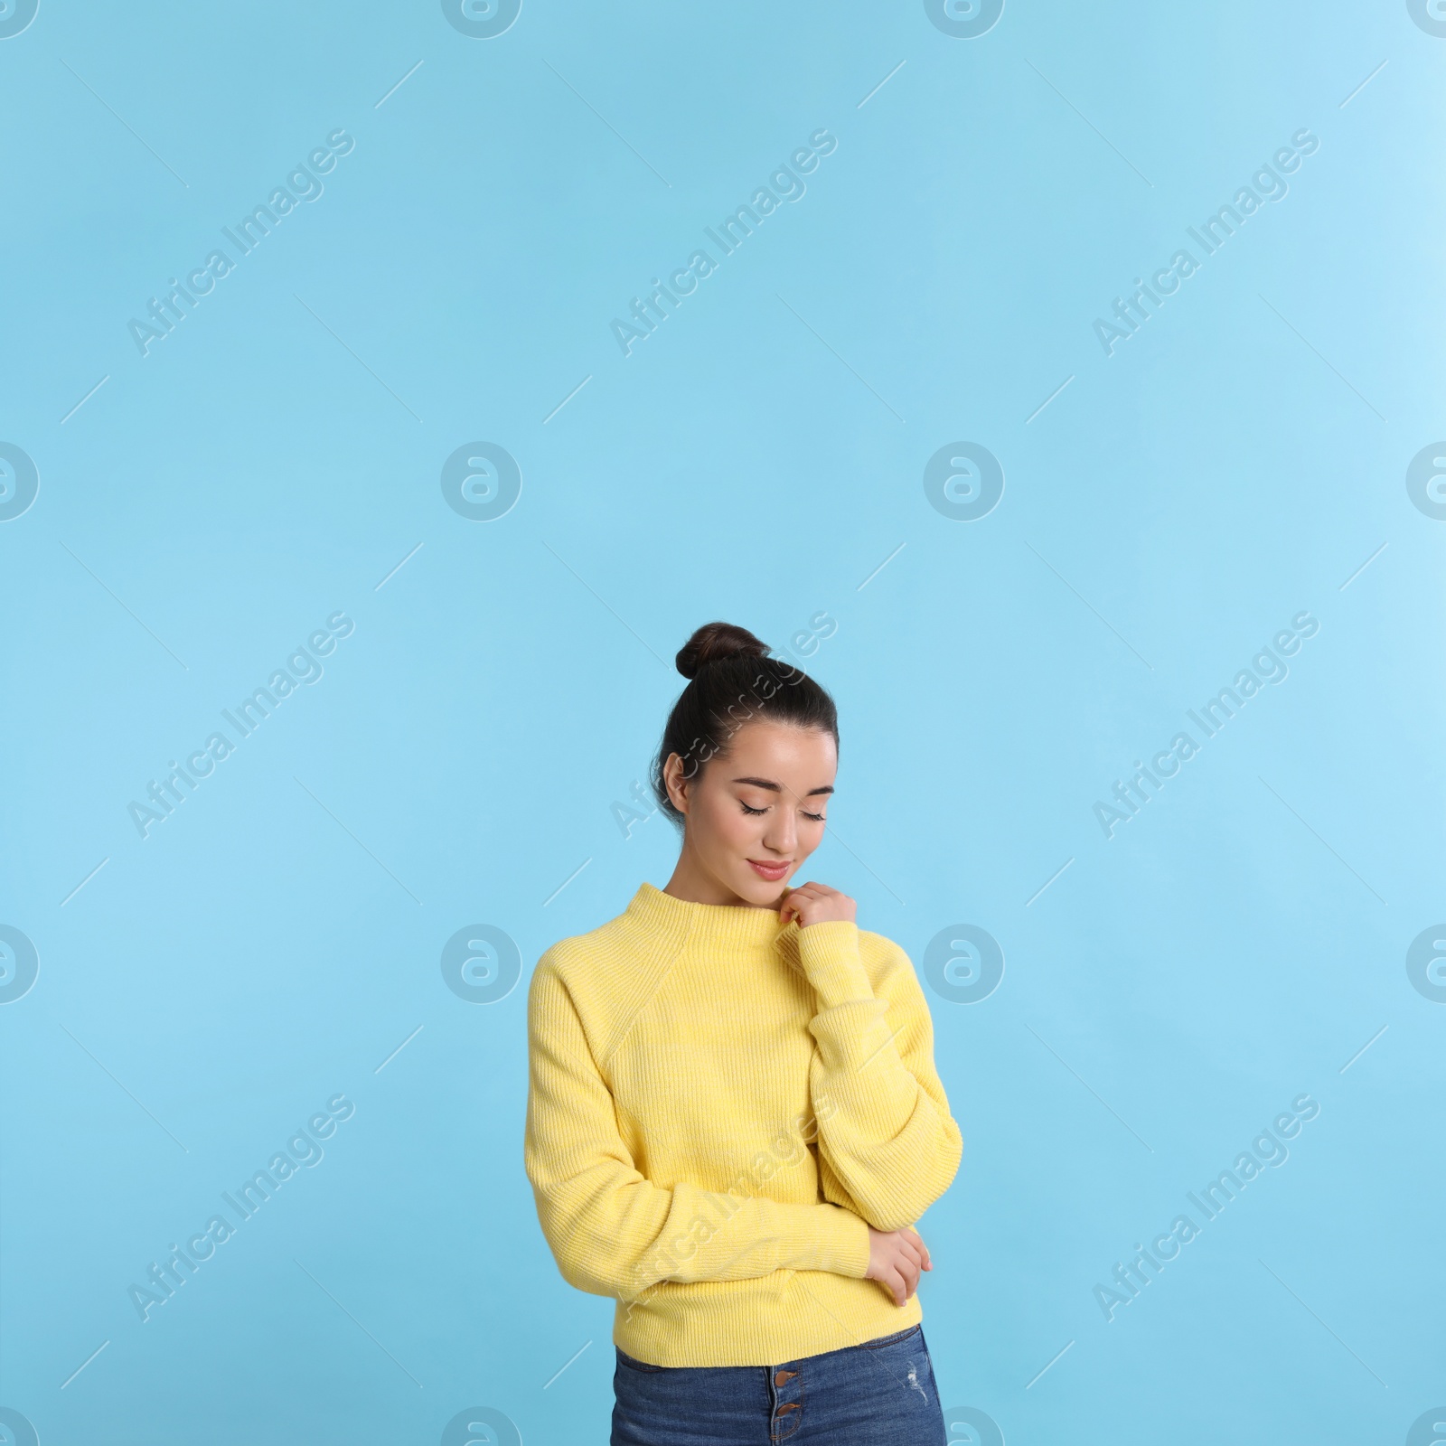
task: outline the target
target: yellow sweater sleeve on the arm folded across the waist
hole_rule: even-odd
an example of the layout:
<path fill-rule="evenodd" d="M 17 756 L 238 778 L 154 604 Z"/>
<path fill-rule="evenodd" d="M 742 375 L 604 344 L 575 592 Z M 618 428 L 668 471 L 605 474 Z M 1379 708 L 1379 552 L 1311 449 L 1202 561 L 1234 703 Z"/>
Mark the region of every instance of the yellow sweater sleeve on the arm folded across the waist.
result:
<path fill-rule="evenodd" d="M 646 1180 L 617 1129 L 573 996 L 545 959 L 528 991 L 528 1060 L 525 1168 L 568 1284 L 633 1300 L 662 1280 L 749 1280 L 785 1268 L 868 1274 L 869 1231 L 852 1210 Z"/>

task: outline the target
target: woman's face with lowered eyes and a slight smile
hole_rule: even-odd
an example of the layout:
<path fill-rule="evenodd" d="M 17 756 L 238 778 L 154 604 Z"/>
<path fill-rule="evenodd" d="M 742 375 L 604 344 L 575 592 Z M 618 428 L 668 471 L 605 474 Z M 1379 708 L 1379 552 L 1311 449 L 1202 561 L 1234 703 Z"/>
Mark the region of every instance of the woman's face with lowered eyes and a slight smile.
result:
<path fill-rule="evenodd" d="M 694 778 L 669 755 L 664 778 L 685 820 L 683 862 L 706 876 L 700 885 L 733 895 L 722 902 L 777 905 L 823 842 L 837 768 L 831 733 L 763 719 L 739 729 Z"/>

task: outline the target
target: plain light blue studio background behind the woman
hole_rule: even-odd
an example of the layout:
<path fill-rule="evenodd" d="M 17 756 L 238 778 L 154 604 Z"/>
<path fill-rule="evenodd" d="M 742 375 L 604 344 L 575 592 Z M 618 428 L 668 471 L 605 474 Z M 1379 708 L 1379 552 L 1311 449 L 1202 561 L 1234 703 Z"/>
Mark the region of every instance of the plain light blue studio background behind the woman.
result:
<path fill-rule="evenodd" d="M 962 923 L 1006 960 L 928 991 L 953 1439 L 1406 1440 L 1446 1400 L 1446 1008 L 1404 966 L 1446 917 L 1417 10 L 1009 0 L 956 38 L 526 0 L 476 39 L 421 0 L 42 0 L 0 40 L 0 440 L 40 479 L 0 525 L 0 923 L 40 962 L 0 1006 L 0 1407 L 45 1443 L 438 1442 L 479 1406 L 606 1440 L 612 1303 L 522 1171 L 526 980 L 671 872 L 613 804 L 674 651 L 823 612 L 808 876 L 921 976 Z M 337 127 L 324 194 L 142 357 L 127 322 Z M 807 194 L 625 357 L 612 320 L 820 127 Z M 1095 318 L 1300 127 L 1288 195 L 1106 356 Z M 471 441 L 521 467 L 495 521 L 442 497 Z M 954 441 L 1004 469 L 977 521 L 924 493 Z M 1288 678 L 1106 839 L 1096 800 L 1306 609 Z M 142 839 L 127 804 L 337 610 L 324 675 Z M 483 923 L 522 964 L 492 1004 L 440 969 Z M 338 1092 L 325 1158 L 142 1323 L 127 1288 Z M 1288 1161 L 1106 1322 L 1093 1287 L 1301 1092 Z"/>

